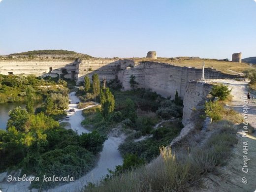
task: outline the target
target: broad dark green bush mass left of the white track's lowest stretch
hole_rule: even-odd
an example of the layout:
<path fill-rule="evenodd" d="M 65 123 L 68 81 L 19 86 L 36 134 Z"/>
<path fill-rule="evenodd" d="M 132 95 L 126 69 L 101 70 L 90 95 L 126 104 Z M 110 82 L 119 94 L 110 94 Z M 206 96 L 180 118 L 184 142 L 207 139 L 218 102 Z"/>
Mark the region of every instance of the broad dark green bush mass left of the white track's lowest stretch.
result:
<path fill-rule="evenodd" d="M 46 152 L 39 156 L 39 158 L 31 154 L 25 158 L 23 163 L 24 167 L 27 168 L 31 165 L 31 162 L 33 164 L 36 162 L 37 166 L 33 166 L 35 168 L 34 171 L 37 172 L 37 175 L 41 177 L 40 181 L 42 181 L 44 174 L 46 176 L 57 175 L 58 177 L 67 177 L 69 175 L 74 179 L 78 179 L 93 168 L 95 160 L 95 156 L 86 149 L 68 145 L 64 149 Z M 28 170 L 30 168 L 26 169 L 26 172 Z M 32 182 L 32 188 L 42 187 L 43 189 L 47 189 L 55 185 L 56 183 L 54 182 Z"/>

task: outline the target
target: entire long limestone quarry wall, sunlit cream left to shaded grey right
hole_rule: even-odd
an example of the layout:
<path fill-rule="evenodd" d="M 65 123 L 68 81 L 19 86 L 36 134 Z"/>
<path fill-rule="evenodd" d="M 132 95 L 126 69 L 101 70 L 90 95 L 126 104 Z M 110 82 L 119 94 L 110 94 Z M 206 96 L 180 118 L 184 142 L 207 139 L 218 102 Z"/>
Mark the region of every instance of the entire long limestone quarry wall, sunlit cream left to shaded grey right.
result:
<path fill-rule="evenodd" d="M 88 60 L 53 60 L 53 61 L 0 61 L 0 74 L 34 74 L 42 76 L 62 77 L 74 79 L 77 84 L 84 81 L 85 75 L 92 80 L 97 73 L 100 81 L 118 78 L 123 84 L 123 90 L 130 90 L 130 76 L 135 76 L 138 88 L 151 89 L 161 96 L 171 96 L 176 91 L 184 99 L 183 123 L 192 114 L 197 104 L 205 99 L 210 91 L 208 84 L 200 81 L 202 69 L 194 67 L 180 67 L 175 64 L 159 62 L 134 62 L 129 59 L 88 59 Z M 223 74 L 219 71 L 205 68 L 205 79 L 235 78 L 237 76 Z"/>

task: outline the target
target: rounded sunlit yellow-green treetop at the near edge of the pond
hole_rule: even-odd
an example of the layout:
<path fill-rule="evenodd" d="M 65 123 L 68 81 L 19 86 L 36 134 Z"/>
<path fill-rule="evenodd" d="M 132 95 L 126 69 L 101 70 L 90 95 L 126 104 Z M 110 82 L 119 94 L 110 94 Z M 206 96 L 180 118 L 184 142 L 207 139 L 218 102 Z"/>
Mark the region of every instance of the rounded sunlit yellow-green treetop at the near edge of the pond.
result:
<path fill-rule="evenodd" d="M 26 130 L 25 124 L 29 120 L 29 113 L 26 109 L 22 109 L 20 106 L 9 111 L 9 120 L 7 121 L 7 128 L 15 127 L 20 131 Z"/>

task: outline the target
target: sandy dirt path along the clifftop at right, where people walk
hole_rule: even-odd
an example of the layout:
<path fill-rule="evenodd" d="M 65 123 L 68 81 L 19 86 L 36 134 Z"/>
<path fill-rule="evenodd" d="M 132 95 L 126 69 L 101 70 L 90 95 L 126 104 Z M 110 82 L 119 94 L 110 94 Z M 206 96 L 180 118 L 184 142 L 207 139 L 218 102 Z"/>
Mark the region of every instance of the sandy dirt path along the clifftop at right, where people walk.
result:
<path fill-rule="evenodd" d="M 209 82 L 209 81 L 208 81 Z M 232 88 L 233 95 L 230 106 L 241 115 L 244 115 L 244 99 L 247 96 L 248 82 L 234 80 L 217 80 L 214 82 L 223 83 Z M 251 94 L 253 95 L 253 94 Z M 255 98 L 256 96 L 253 95 Z M 256 103 L 248 104 L 248 121 L 256 128 Z M 232 156 L 224 167 L 218 168 L 218 175 L 208 174 L 204 178 L 204 188 L 192 189 L 192 192 L 255 192 L 256 191 L 256 132 L 248 137 L 242 137 L 238 131 L 238 143 L 232 149 Z M 244 154 L 246 146 L 247 154 Z M 250 159 L 245 161 L 245 156 Z M 247 163 L 247 164 L 246 164 Z M 242 171 L 243 166 L 248 166 L 248 173 Z M 246 169 L 244 169 L 246 171 Z M 246 183 L 243 183 L 242 180 Z"/>

